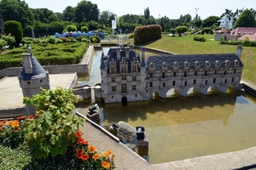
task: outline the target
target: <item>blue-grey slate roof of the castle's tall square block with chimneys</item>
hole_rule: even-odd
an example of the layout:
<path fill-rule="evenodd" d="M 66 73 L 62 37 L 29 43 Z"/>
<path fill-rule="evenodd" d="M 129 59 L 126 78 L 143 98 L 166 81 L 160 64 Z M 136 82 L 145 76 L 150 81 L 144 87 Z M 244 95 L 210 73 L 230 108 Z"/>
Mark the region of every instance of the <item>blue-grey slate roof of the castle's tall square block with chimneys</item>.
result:
<path fill-rule="evenodd" d="M 122 58 L 125 58 L 125 48 L 121 48 L 120 51 L 120 60 L 117 61 L 117 52 L 116 52 L 116 48 L 109 48 L 108 50 L 108 60 L 106 63 L 106 66 L 108 67 L 109 62 L 112 61 L 112 59 L 116 62 L 116 73 L 120 73 L 120 62 L 122 61 Z M 131 62 L 133 61 L 133 59 L 136 59 L 136 61 L 138 61 L 138 64 L 140 64 L 139 59 L 137 59 L 137 54 L 135 51 L 130 51 L 129 50 L 129 59 L 125 59 L 126 63 L 128 63 L 128 68 L 127 68 L 127 73 L 131 73 Z M 103 60 L 103 59 L 102 59 Z M 103 65 L 101 65 L 101 68 L 103 68 Z M 140 72 L 140 67 L 137 67 L 137 71 Z M 108 67 L 108 73 L 110 73 L 109 71 L 109 67 Z"/>

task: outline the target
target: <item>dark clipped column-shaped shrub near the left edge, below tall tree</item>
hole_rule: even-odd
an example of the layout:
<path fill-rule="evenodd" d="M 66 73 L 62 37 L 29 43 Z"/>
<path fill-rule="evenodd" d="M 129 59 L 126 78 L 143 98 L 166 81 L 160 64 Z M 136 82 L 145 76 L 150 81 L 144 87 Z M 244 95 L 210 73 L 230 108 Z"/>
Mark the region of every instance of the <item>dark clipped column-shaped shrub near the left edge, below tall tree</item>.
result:
<path fill-rule="evenodd" d="M 8 20 L 3 24 L 3 33 L 6 35 L 11 34 L 15 37 L 15 45 L 19 46 L 22 38 L 23 38 L 23 31 L 20 22 L 16 20 Z"/>

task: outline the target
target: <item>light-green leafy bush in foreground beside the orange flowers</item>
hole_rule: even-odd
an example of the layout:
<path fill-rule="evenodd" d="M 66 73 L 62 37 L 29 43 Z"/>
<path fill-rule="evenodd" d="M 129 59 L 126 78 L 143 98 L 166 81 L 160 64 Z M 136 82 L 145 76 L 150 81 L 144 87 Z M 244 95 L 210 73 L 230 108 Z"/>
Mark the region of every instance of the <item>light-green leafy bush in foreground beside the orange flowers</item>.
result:
<path fill-rule="evenodd" d="M 72 89 L 45 90 L 24 103 L 36 108 L 37 119 L 27 123 L 26 143 L 38 158 L 63 155 L 76 140 L 73 135 L 83 121 L 73 115 L 76 100 Z"/>

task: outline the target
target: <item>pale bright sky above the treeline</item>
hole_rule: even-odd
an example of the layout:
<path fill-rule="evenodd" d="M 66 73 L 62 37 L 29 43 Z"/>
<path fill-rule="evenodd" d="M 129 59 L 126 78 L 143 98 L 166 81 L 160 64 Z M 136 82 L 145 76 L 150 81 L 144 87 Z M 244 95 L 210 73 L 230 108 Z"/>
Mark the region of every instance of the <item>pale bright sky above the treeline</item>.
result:
<path fill-rule="evenodd" d="M 49 8 L 54 12 L 62 12 L 67 6 L 77 6 L 81 0 L 24 0 L 30 8 Z M 192 18 L 197 14 L 201 19 L 208 16 L 220 16 L 225 8 L 233 12 L 236 8 L 254 8 L 255 0 L 90 0 L 96 3 L 100 12 L 108 10 L 118 16 L 124 14 L 143 14 L 145 8 L 149 8 L 150 15 L 155 19 L 167 16 L 170 19 L 178 19 L 180 15 L 190 14 Z"/>

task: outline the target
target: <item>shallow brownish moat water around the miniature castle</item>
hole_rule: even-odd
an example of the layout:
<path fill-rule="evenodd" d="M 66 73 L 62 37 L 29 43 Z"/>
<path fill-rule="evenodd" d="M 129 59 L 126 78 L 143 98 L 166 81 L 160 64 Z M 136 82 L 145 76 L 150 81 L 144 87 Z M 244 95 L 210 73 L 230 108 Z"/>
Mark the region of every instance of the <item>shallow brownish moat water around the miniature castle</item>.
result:
<path fill-rule="evenodd" d="M 107 53 L 108 49 L 105 50 Z M 89 82 L 79 78 L 79 85 L 100 82 L 101 54 L 102 51 L 96 52 L 90 78 L 87 77 Z M 209 91 L 203 98 L 192 92 L 183 100 L 170 90 L 167 96 L 165 101 L 152 99 L 125 107 L 97 103 L 101 125 L 124 121 L 133 127 L 145 127 L 149 149 L 143 157 L 152 164 L 245 150 L 256 145 L 256 104 L 247 94 L 228 91 L 224 96 Z M 79 103 L 77 111 L 85 115 L 94 102 L 92 99 Z"/>

